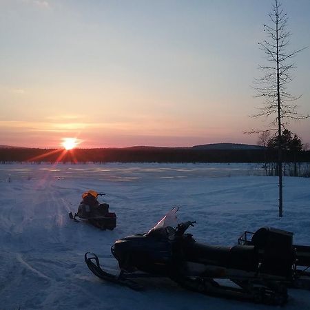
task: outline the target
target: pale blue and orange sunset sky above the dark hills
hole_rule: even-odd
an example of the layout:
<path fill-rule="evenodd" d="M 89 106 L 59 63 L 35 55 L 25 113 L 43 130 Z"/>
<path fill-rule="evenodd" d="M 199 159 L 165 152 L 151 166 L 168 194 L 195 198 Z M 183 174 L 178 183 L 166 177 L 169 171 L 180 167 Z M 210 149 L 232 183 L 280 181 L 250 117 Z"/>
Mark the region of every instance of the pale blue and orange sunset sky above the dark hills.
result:
<path fill-rule="evenodd" d="M 271 0 L 0 0 L 0 145 L 256 144 Z M 310 1 L 283 0 L 310 114 Z M 310 119 L 289 129 L 310 143 Z"/>

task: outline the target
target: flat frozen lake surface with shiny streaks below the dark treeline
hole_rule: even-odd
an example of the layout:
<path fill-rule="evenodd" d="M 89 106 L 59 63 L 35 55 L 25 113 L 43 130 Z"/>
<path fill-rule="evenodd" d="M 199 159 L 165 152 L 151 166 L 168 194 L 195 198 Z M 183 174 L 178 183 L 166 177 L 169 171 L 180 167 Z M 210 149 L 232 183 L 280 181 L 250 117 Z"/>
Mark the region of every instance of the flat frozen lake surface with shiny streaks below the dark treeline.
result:
<path fill-rule="evenodd" d="M 107 163 L 95 164 L 8 164 L 0 165 L 0 177 L 94 178 L 97 180 L 146 180 L 148 178 L 197 178 L 223 176 L 264 176 L 262 164 L 247 163 Z"/>

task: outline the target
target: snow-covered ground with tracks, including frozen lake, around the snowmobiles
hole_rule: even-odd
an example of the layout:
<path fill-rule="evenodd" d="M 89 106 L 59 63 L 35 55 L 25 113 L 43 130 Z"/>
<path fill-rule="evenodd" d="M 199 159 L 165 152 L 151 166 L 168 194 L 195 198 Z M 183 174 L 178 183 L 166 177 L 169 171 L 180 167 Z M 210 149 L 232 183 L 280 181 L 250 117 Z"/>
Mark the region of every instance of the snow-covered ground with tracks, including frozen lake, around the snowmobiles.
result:
<path fill-rule="evenodd" d="M 278 180 L 248 164 L 0 165 L 0 309 L 276 309 L 186 291 L 169 280 L 143 280 L 132 291 L 96 278 L 85 251 L 117 269 L 110 247 L 143 233 L 175 205 L 180 220 L 196 220 L 196 240 L 234 245 L 262 226 L 294 232 L 310 245 L 310 178 L 284 178 L 284 217 Z M 117 227 L 101 231 L 74 223 L 87 189 L 105 192 Z M 310 291 L 289 290 L 285 309 L 310 309 Z"/>

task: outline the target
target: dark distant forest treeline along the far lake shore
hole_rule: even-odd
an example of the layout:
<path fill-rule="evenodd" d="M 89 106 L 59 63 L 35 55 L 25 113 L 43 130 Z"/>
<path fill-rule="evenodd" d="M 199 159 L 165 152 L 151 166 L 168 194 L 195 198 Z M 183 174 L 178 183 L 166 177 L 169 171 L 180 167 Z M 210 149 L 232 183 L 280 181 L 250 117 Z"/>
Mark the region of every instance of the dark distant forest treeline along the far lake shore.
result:
<path fill-rule="evenodd" d="M 0 162 L 30 163 L 273 163 L 277 151 L 262 149 L 194 149 L 182 147 L 127 147 L 100 149 L 0 148 Z M 285 152 L 284 160 L 310 162 L 310 151 Z"/>

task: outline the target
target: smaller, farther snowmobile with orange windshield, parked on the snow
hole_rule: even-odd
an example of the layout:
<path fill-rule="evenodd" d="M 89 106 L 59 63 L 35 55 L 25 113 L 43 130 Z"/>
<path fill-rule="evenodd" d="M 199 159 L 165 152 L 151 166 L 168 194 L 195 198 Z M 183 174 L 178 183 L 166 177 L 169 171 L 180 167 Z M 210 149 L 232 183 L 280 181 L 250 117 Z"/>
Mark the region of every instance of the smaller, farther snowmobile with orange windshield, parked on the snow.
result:
<path fill-rule="evenodd" d="M 76 214 L 69 213 L 69 217 L 76 222 L 79 220 L 87 220 L 90 224 L 99 227 L 100 229 L 114 229 L 116 227 L 116 214 L 109 212 L 109 205 L 107 203 L 99 203 L 98 196 L 105 194 L 99 194 L 96 191 L 89 190 L 82 195 L 82 201 L 79 205 Z"/>

